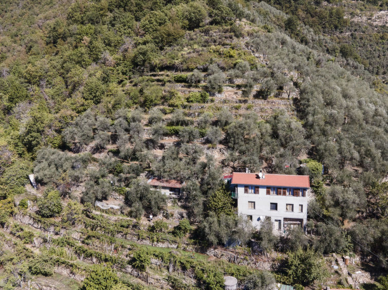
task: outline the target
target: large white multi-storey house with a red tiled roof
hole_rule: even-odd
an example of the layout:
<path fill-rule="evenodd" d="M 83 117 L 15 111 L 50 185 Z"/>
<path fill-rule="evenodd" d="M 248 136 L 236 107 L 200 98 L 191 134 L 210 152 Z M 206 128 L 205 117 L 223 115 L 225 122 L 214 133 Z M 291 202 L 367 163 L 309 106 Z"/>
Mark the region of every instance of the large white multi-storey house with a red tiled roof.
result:
<path fill-rule="evenodd" d="M 283 175 L 233 172 L 224 176 L 237 200 L 237 213 L 260 228 L 269 218 L 274 229 L 283 231 L 294 226 L 305 229 L 307 199 L 310 194 L 308 175 Z"/>

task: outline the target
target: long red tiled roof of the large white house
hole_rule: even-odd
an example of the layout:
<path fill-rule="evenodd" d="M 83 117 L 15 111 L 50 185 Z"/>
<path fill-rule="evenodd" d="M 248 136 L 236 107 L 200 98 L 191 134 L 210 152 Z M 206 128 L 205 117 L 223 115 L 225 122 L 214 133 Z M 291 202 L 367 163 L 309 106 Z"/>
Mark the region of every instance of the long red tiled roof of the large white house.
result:
<path fill-rule="evenodd" d="M 265 178 L 259 179 L 256 173 L 233 172 L 231 183 L 293 188 L 310 187 L 308 175 L 265 174 Z"/>

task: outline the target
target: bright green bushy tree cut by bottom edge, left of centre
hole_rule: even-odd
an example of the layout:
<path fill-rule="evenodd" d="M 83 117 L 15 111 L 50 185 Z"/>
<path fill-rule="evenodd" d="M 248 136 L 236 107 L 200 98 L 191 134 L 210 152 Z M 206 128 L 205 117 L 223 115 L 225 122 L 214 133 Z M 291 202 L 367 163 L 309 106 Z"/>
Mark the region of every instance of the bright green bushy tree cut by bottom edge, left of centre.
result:
<path fill-rule="evenodd" d="M 85 278 L 82 290 L 110 290 L 118 283 L 119 278 L 112 266 L 93 265 L 88 277 Z"/>

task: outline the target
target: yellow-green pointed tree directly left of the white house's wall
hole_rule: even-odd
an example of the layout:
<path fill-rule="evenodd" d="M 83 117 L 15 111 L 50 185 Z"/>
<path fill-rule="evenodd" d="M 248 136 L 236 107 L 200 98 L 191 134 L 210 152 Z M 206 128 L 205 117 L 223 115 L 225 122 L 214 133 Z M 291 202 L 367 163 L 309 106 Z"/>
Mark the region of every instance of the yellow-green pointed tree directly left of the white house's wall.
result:
<path fill-rule="evenodd" d="M 208 211 L 211 211 L 219 217 L 221 214 L 224 215 L 233 215 L 233 199 L 230 195 L 230 190 L 227 188 L 226 184 L 223 183 L 220 188 L 214 191 L 208 199 Z"/>

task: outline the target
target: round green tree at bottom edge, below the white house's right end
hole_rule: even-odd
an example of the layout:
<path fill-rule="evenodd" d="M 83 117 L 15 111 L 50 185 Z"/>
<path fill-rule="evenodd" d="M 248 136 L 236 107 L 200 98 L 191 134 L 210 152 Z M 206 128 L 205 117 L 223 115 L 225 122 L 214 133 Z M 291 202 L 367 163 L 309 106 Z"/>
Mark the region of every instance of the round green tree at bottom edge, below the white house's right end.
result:
<path fill-rule="evenodd" d="M 325 266 L 321 256 L 313 250 L 299 248 L 295 252 L 287 252 L 285 273 L 292 284 L 311 285 L 325 277 Z"/>

